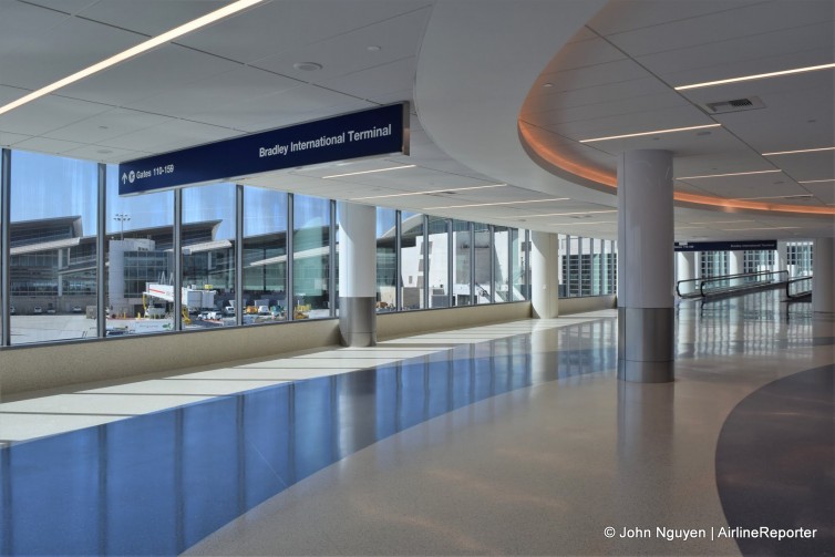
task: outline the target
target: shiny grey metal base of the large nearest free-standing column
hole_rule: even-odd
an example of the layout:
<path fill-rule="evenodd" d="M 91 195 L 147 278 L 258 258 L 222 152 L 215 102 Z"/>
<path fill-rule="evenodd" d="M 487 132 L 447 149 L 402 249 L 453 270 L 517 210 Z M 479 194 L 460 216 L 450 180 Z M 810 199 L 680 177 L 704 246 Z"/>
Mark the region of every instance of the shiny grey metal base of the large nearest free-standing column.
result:
<path fill-rule="evenodd" d="M 673 308 L 618 308 L 618 379 L 673 381 L 674 322 Z"/>

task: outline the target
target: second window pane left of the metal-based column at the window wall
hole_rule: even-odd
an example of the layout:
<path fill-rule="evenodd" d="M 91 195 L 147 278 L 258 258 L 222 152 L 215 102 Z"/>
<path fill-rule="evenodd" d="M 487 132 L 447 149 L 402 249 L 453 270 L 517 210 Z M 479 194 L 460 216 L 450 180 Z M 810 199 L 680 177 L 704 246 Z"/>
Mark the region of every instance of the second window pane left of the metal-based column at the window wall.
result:
<path fill-rule="evenodd" d="M 286 321 L 287 194 L 244 188 L 244 324 Z M 266 309 L 265 309 L 266 308 Z M 235 316 L 230 303 L 224 313 Z"/>

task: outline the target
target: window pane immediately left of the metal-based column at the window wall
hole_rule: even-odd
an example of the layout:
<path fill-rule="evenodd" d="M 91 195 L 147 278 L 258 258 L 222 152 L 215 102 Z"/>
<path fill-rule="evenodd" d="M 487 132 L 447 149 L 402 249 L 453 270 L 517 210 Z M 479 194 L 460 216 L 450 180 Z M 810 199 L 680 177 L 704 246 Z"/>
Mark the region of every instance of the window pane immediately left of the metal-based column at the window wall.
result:
<path fill-rule="evenodd" d="M 293 319 L 330 317 L 330 200 L 293 196 Z"/>

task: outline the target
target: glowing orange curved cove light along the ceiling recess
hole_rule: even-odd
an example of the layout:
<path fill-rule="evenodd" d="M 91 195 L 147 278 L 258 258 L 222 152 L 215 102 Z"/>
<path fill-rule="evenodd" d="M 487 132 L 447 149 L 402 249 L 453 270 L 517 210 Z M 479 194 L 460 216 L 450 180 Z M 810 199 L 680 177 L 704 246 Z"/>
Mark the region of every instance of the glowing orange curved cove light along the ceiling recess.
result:
<path fill-rule="evenodd" d="M 571 161 L 567 156 L 557 152 L 551 145 L 548 145 L 545 141 L 539 140 L 536 135 L 536 127 L 527 124 L 526 122 L 517 122 L 519 135 L 527 146 L 533 149 L 539 157 L 547 163 L 561 168 L 566 172 L 579 176 L 587 180 L 595 182 L 602 186 L 617 188 L 618 178 L 612 173 L 607 173 L 584 166 L 575 161 Z M 723 208 L 723 209 L 750 209 L 750 210 L 764 210 L 773 213 L 791 213 L 801 215 L 815 215 L 815 216 L 835 216 L 835 207 L 808 207 L 800 205 L 786 205 L 774 204 L 763 202 L 746 202 L 742 199 L 725 199 L 722 197 L 711 197 L 707 195 L 685 194 L 682 192 L 674 192 L 673 199 L 681 203 L 690 203 L 695 205 L 705 205 L 709 207 Z"/>

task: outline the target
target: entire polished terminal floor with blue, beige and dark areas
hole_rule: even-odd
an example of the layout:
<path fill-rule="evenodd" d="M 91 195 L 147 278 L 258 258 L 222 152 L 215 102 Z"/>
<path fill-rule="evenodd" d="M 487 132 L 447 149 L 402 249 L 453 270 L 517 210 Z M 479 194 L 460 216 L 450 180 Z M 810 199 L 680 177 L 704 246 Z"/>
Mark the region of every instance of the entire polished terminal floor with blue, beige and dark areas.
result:
<path fill-rule="evenodd" d="M 835 555 L 835 320 L 677 313 L 670 384 L 605 311 L 4 402 L 0 551 Z"/>

